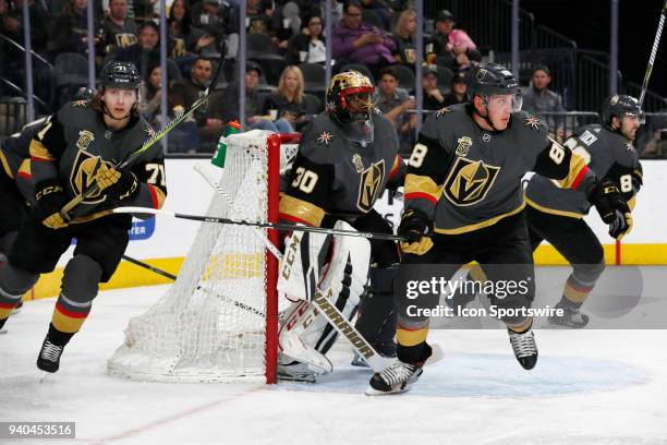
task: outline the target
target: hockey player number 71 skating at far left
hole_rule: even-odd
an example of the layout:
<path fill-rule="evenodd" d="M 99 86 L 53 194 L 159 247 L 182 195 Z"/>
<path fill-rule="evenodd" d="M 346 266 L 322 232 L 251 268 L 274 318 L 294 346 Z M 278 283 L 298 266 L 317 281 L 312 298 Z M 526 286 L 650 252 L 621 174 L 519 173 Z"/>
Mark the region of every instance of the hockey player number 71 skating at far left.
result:
<path fill-rule="evenodd" d="M 0 326 L 21 296 L 51 272 L 76 238 L 37 368 L 58 371 L 63 348 L 90 312 L 98 284 L 108 281 L 129 241 L 130 215 L 112 215 L 119 205 L 161 207 L 167 194 L 162 152 L 155 145 L 126 169 L 113 164 L 153 134 L 137 113 L 140 75 L 129 62 L 109 62 L 101 91 L 50 116 L 31 143 L 35 208 L 22 226 L 0 268 Z M 113 164 L 112 164 L 113 163 Z M 97 184 L 70 215 L 61 208 Z"/>

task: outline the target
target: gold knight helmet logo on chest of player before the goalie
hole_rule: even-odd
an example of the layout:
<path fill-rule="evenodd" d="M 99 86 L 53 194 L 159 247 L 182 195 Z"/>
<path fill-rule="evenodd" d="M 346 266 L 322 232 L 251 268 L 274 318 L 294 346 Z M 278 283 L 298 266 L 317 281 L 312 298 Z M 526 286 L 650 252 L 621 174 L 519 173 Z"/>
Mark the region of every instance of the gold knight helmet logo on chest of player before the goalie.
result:
<path fill-rule="evenodd" d="M 478 203 L 486 197 L 499 172 L 500 167 L 488 166 L 482 160 L 457 157 L 445 181 L 445 196 L 458 206 Z"/>

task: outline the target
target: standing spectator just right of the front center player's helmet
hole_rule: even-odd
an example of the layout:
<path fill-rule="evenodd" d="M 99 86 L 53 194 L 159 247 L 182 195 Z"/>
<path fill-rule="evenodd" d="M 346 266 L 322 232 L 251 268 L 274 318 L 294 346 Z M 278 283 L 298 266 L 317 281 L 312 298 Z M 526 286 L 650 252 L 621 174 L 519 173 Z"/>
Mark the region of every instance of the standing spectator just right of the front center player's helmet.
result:
<path fill-rule="evenodd" d="M 533 69 L 532 86 L 523 95 L 523 110 L 535 113 L 542 120 L 549 133 L 556 136 L 558 142 L 565 137 L 563 118 L 558 116 L 546 116 L 543 111 L 563 112 L 562 99 L 558 93 L 549 89 L 551 73 L 545 65 Z"/>

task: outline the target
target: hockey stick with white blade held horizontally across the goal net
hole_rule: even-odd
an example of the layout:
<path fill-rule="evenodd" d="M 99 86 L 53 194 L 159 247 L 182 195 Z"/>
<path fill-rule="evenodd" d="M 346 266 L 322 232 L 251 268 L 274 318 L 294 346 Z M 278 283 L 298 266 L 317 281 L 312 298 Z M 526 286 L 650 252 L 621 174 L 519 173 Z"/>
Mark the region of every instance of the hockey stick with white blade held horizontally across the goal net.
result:
<path fill-rule="evenodd" d="M 307 232 L 314 232 L 314 233 L 342 234 L 345 237 L 359 237 L 359 238 L 375 239 L 375 240 L 389 240 L 389 241 L 404 241 L 405 240 L 402 237 L 397 237 L 396 234 L 388 234 L 388 233 L 359 232 L 355 230 L 341 230 L 341 229 L 325 229 L 323 227 L 296 226 L 293 224 L 271 224 L 271 222 L 234 220 L 234 219 L 228 219 L 228 218 L 220 218 L 216 216 L 185 215 L 185 214 L 180 214 L 180 213 L 175 213 L 171 211 L 165 211 L 161 208 L 150 208 L 150 207 L 117 207 L 117 208 L 113 208 L 112 212 L 116 214 L 167 215 L 173 218 L 190 219 L 193 221 L 231 224 L 231 225 L 237 225 L 237 226 L 262 227 L 265 229 L 286 230 L 286 231 L 296 230 L 296 231 L 307 231 Z"/>

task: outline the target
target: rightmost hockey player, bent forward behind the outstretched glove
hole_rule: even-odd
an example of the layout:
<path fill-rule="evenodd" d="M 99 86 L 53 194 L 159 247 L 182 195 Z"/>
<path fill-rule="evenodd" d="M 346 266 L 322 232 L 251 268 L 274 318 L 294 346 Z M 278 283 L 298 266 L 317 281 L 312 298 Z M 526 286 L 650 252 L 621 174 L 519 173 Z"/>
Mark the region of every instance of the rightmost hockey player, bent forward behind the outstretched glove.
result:
<path fill-rule="evenodd" d="M 613 182 L 633 208 L 642 185 L 642 166 L 632 142 L 642 110 L 634 97 L 623 95 L 608 97 L 602 108 L 602 123 L 579 128 L 565 146 L 581 155 L 599 178 Z M 591 203 L 582 193 L 559 189 L 542 175 L 531 178 L 525 202 L 532 249 L 546 239 L 573 268 L 556 305 L 563 315 L 550 316 L 549 322 L 583 327 L 589 316 L 580 308 L 605 268 L 603 246 L 583 220 Z M 609 234 L 621 239 L 630 229 L 626 225 L 631 226 L 632 219 L 617 215 Z"/>

